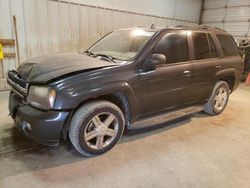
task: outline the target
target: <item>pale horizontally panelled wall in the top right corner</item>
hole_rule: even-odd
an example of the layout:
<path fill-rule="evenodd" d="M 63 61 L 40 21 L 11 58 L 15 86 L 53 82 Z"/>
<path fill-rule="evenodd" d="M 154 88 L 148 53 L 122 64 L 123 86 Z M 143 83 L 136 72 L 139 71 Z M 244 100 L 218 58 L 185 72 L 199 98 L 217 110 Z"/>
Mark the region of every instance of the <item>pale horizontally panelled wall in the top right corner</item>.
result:
<path fill-rule="evenodd" d="M 237 39 L 250 36 L 250 1 L 205 0 L 202 23 L 222 28 Z"/>

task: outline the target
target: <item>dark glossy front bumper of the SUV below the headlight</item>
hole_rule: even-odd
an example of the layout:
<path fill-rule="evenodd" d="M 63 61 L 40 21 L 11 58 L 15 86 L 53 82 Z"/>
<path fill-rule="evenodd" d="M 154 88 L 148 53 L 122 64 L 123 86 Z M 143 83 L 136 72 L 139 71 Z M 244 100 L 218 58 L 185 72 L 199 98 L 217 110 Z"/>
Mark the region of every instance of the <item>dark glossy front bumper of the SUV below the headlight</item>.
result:
<path fill-rule="evenodd" d="M 22 100 L 13 92 L 9 96 L 9 112 L 18 129 L 27 137 L 44 145 L 58 145 L 64 123 L 69 115 L 65 111 L 41 111 Z"/>

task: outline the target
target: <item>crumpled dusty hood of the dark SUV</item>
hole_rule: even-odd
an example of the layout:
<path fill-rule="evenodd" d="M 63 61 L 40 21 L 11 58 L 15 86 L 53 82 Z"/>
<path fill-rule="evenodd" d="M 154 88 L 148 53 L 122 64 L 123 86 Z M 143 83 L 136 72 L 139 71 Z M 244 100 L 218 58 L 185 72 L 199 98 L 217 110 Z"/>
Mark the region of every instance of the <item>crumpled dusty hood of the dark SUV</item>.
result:
<path fill-rule="evenodd" d="M 18 67 L 18 74 L 26 82 L 45 83 L 66 74 L 110 66 L 116 64 L 79 53 L 55 54 L 25 61 Z"/>

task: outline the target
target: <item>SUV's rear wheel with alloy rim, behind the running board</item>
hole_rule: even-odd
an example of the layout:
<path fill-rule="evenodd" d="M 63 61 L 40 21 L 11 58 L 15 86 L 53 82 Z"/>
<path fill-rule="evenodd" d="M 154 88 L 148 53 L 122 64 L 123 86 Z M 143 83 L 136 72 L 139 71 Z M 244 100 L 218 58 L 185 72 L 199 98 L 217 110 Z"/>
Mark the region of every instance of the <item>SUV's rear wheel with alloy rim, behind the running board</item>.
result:
<path fill-rule="evenodd" d="M 219 97 L 219 92 L 221 91 L 224 91 L 224 93 L 223 94 L 221 93 L 220 95 L 220 96 L 225 95 L 224 99 L 222 99 L 222 97 Z M 218 115 L 221 112 L 223 112 L 228 103 L 229 91 L 230 90 L 227 82 L 218 81 L 214 86 L 212 95 L 210 96 L 207 104 L 204 107 L 204 111 L 210 115 Z M 221 105 L 218 105 L 218 103 L 220 103 L 218 101 L 221 102 Z"/>

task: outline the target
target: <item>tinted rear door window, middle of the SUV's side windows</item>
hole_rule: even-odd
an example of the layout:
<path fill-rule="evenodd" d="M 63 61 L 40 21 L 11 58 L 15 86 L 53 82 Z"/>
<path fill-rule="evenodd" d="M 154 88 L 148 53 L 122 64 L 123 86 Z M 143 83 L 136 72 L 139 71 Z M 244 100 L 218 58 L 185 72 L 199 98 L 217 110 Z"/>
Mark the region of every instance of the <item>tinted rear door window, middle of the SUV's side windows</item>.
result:
<path fill-rule="evenodd" d="M 196 33 L 192 34 L 195 59 L 207 59 L 210 58 L 209 45 L 207 41 L 206 33 Z"/>

